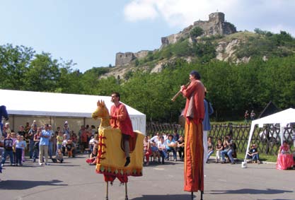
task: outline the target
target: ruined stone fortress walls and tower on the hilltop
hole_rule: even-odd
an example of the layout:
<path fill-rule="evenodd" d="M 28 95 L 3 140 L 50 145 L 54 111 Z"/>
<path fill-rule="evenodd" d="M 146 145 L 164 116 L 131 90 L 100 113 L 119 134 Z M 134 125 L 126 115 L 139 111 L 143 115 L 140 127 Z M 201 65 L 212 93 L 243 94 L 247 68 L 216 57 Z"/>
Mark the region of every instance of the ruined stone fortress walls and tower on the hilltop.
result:
<path fill-rule="evenodd" d="M 168 35 L 167 37 L 162 37 L 161 42 L 162 45 L 160 47 L 166 47 L 167 45 L 174 44 L 178 42 L 180 38 L 187 38 L 190 37 L 190 31 L 195 28 L 199 27 L 204 30 L 204 34 L 202 36 L 209 36 L 209 35 L 230 35 L 232 33 L 236 33 L 236 27 L 228 23 L 224 20 L 224 13 L 216 12 L 209 14 L 209 20 L 197 20 L 193 25 L 183 29 L 180 33 L 176 33 L 173 35 Z M 130 61 L 134 59 L 139 59 L 146 57 L 149 53 L 148 50 L 140 51 L 137 53 L 133 52 L 118 52 L 116 54 L 116 61 L 115 66 L 124 66 L 129 64 Z"/>

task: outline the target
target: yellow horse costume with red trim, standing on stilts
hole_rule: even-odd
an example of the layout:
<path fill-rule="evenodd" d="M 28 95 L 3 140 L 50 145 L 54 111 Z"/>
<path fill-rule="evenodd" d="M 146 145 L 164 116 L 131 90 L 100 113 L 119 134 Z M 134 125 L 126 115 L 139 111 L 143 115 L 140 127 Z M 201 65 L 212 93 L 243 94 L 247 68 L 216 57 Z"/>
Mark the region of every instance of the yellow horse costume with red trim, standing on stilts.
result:
<path fill-rule="evenodd" d="M 129 139 L 130 164 L 125 165 L 124 142 L 120 129 L 112 129 L 110 127 L 110 114 L 105 102 L 98 101 L 98 108 L 93 112 L 93 119 L 101 119 L 98 128 L 98 155 L 96 172 L 103 174 L 106 187 L 105 199 L 108 200 L 108 182 L 112 182 L 117 178 L 122 184 L 125 184 L 125 200 L 127 196 L 128 176 L 142 176 L 143 158 L 144 158 L 144 135 L 140 131 L 134 131 L 134 138 Z"/>

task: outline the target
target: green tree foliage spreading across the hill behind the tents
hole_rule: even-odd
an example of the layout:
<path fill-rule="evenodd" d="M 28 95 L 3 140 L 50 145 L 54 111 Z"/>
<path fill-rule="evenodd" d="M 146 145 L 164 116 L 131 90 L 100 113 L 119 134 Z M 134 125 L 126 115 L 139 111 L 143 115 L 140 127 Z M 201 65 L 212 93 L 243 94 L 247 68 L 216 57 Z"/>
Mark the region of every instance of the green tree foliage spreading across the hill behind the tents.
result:
<path fill-rule="evenodd" d="M 129 71 L 125 76 L 101 78 L 110 67 L 93 67 L 84 73 L 74 69 L 73 61 L 52 58 L 51 54 L 36 54 L 30 47 L 0 46 L 0 88 L 56 93 L 110 95 L 120 92 L 121 100 L 146 114 L 147 120 L 178 122 L 185 98 L 170 99 L 189 80 L 189 73 L 197 70 L 206 86 L 207 98 L 214 107 L 217 120 L 241 119 L 245 110 L 260 112 L 270 100 L 282 109 L 295 106 L 295 55 L 278 54 L 277 45 L 293 48 L 289 34 L 270 34 L 256 30 L 245 45 L 243 54 L 267 54 L 253 57 L 246 64 L 216 61 L 212 40 L 189 44 L 182 40 L 158 52 L 151 52 L 146 60 L 178 57 L 169 61 L 160 73 Z M 260 48 L 255 49 L 255 44 Z M 284 46 L 282 46 L 284 45 Z M 247 53 L 247 51 L 249 53 Z M 272 52 L 272 53 L 271 53 Z M 242 52 L 240 52 L 242 54 Z M 191 63 L 181 57 L 197 55 Z M 139 60 L 140 65 L 143 60 Z"/>

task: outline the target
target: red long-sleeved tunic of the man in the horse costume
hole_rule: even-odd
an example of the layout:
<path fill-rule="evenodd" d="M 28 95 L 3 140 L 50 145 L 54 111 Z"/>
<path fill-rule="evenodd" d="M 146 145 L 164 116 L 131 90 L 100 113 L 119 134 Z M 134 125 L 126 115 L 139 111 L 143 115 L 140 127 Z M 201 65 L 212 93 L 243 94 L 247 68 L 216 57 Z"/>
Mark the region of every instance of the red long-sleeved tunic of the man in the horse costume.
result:
<path fill-rule="evenodd" d="M 127 108 L 122 102 L 119 105 L 110 107 L 110 126 L 119 128 L 122 134 L 134 137 L 132 122 L 127 112 Z"/>

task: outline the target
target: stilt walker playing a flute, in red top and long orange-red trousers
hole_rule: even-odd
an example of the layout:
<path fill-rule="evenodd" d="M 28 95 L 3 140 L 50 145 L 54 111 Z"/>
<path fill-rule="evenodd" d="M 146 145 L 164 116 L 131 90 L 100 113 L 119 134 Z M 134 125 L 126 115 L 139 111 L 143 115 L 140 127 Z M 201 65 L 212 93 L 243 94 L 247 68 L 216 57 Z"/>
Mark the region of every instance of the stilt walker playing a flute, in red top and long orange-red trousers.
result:
<path fill-rule="evenodd" d="M 187 192 L 204 191 L 204 86 L 197 71 L 190 72 L 190 85 L 181 86 L 185 104 L 185 186 Z"/>

